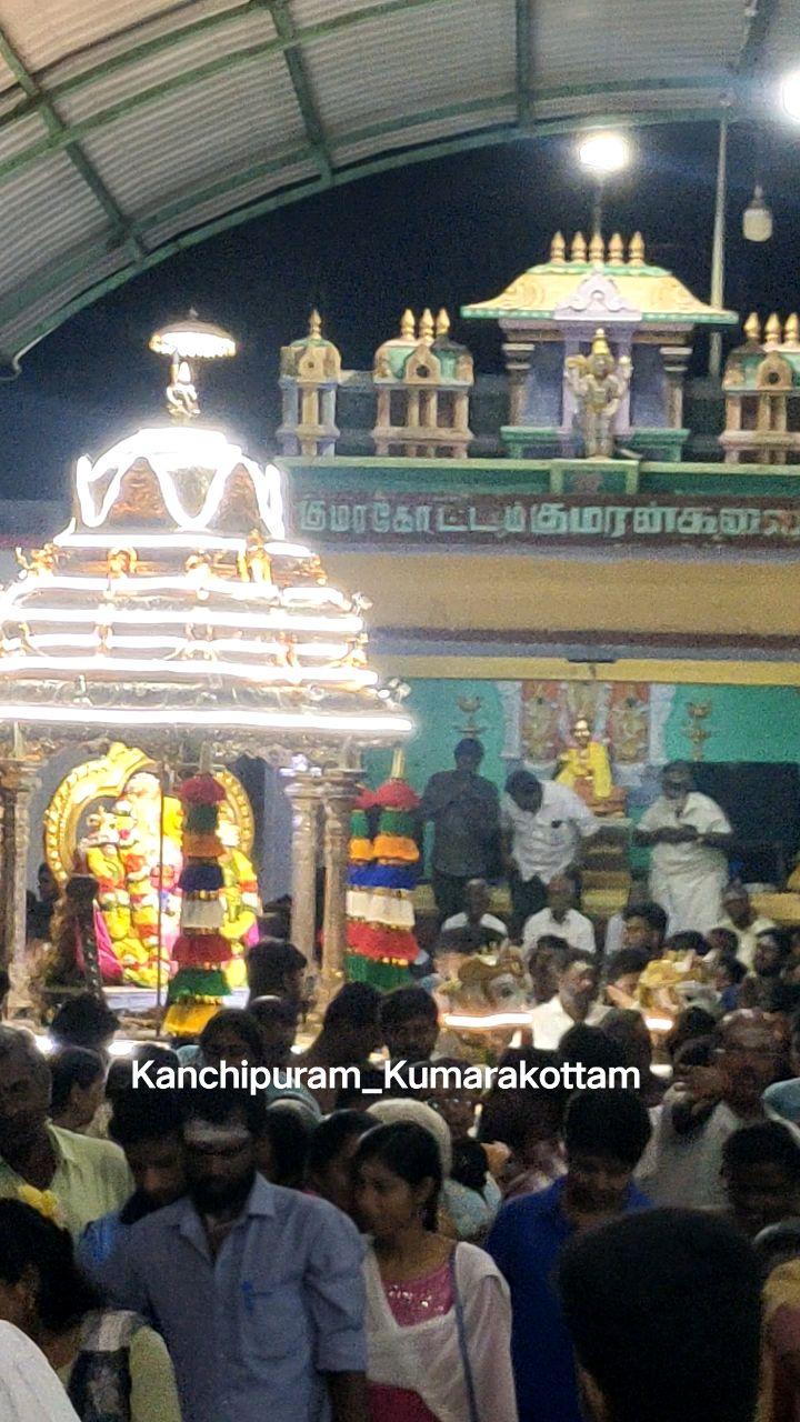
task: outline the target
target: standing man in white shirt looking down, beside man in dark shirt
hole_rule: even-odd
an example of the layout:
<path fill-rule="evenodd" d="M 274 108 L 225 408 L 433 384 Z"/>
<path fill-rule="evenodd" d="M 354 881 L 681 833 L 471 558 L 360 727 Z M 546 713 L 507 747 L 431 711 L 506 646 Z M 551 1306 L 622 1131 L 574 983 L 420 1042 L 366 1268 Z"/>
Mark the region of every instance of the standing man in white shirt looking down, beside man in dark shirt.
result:
<path fill-rule="evenodd" d="M 601 822 L 565 785 L 515 771 L 505 782 L 500 823 L 517 939 L 544 909 L 551 879 L 575 863 L 581 842 L 596 835 Z"/>

